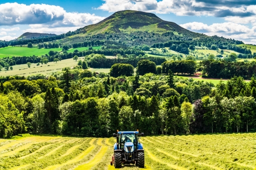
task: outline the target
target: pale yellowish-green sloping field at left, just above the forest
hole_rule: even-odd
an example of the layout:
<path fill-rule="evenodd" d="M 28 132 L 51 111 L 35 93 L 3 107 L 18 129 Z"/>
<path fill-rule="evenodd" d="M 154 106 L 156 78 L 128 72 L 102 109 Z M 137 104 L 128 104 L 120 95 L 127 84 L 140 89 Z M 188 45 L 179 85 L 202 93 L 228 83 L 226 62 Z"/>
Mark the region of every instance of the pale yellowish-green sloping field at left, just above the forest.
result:
<path fill-rule="evenodd" d="M 79 57 L 79 59 L 83 60 L 84 57 Z M 61 61 L 56 62 L 48 62 L 47 64 L 43 64 L 36 66 L 36 63 L 32 63 L 31 67 L 28 68 L 27 64 L 20 64 L 20 65 L 13 65 L 13 70 L 4 70 L 0 71 L 0 76 L 7 76 L 7 75 L 20 75 L 20 76 L 28 76 L 31 74 L 46 74 L 54 71 L 61 71 L 62 68 L 65 67 L 72 67 L 77 65 L 73 58 L 70 59 L 63 59 Z M 50 66 L 48 66 L 50 65 Z M 20 70 L 19 70 L 20 69 Z"/>

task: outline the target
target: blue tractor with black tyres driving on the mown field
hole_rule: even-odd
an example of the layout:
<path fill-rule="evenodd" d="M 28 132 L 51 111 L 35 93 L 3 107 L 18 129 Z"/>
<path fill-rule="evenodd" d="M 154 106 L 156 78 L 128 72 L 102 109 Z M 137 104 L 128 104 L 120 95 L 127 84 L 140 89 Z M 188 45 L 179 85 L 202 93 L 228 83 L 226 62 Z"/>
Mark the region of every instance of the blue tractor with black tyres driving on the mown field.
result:
<path fill-rule="evenodd" d="M 139 134 L 139 130 L 122 132 L 117 130 L 117 134 L 113 134 L 116 143 L 114 144 L 114 155 L 110 162 L 111 166 L 114 164 L 115 168 L 121 168 L 122 164 L 135 164 L 139 168 L 144 168 L 144 150 L 138 136 L 143 137 L 144 133 Z"/>

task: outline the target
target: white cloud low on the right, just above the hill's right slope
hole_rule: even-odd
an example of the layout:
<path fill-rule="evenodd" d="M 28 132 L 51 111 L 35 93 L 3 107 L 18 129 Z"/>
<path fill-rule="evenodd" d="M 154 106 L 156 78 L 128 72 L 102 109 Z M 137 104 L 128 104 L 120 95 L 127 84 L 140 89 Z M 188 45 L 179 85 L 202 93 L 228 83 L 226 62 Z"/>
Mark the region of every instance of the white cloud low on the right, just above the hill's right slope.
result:
<path fill-rule="evenodd" d="M 180 24 L 180 26 L 209 36 L 218 35 L 220 37 L 223 36 L 225 38 L 240 40 L 248 44 L 256 44 L 256 26 L 249 28 L 245 25 L 233 22 L 214 23 L 212 25 L 201 22 L 190 22 Z"/>

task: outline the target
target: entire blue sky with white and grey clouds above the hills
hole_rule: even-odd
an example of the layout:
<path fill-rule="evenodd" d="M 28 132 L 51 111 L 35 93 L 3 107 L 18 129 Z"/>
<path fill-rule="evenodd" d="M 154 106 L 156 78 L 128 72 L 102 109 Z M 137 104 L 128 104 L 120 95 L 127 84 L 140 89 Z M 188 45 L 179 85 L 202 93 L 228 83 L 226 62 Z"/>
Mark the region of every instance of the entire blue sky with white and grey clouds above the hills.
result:
<path fill-rule="evenodd" d="M 62 34 L 128 9 L 256 45 L 256 0 L 0 0 L 0 40 L 24 32 Z"/>

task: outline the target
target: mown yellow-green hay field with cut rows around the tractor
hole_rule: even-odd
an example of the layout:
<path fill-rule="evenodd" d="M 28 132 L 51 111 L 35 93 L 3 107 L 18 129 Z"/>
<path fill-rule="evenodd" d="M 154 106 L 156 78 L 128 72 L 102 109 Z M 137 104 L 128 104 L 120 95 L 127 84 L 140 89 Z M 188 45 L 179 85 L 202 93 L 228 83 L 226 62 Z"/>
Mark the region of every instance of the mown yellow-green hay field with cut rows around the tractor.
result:
<path fill-rule="evenodd" d="M 0 139 L 1 170 L 114 170 L 114 138 Z M 146 170 L 253 170 L 256 133 L 142 137 Z M 232 142 L 230 142 L 232 141 Z M 139 170 L 124 166 L 123 170 Z M 141 169 L 143 170 L 143 169 Z"/>

